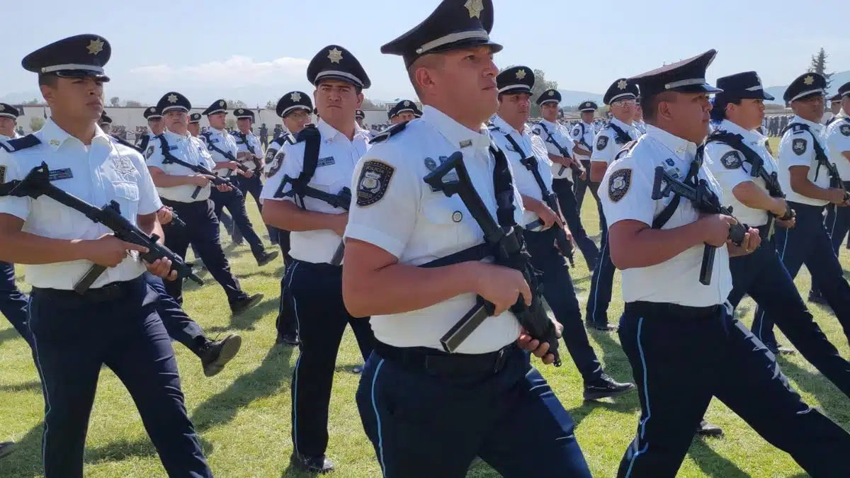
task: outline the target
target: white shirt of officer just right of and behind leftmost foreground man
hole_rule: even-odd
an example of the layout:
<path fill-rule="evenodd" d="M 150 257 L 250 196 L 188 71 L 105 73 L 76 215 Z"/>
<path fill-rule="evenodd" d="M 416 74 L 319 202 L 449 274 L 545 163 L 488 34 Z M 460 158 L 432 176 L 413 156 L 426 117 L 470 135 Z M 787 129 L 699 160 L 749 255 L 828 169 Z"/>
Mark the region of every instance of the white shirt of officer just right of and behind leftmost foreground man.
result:
<path fill-rule="evenodd" d="M 215 164 L 212 162 L 212 156 L 210 156 L 207 152 L 207 146 L 203 141 L 201 141 L 201 139 L 195 138 L 188 133 L 180 135 L 172 133 L 171 131 L 166 131 L 161 134 L 161 137 L 166 140 L 168 152 L 179 160 L 190 164 L 200 164 L 208 169 L 215 167 Z M 147 157 L 149 168 L 159 168 L 165 174 L 172 176 L 191 176 L 196 174 L 195 171 L 192 171 L 190 168 L 186 168 L 185 166 L 175 164 L 173 162 L 169 162 L 167 164 L 163 162 L 165 160 L 165 156 L 162 154 L 160 136 L 155 136 L 153 139 L 150 139 L 150 145 L 148 146 L 147 151 L 145 151 L 145 156 Z M 159 195 L 169 201 L 196 202 L 207 201 L 207 199 L 209 199 L 210 187 L 210 185 L 206 185 L 201 188 L 201 192 L 199 192 L 198 196 L 194 199 L 192 198 L 192 194 L 195 193 L 195 188 L 197 188 L 195 185 L 156 188 L 156 191 L 159 191 Z"/>

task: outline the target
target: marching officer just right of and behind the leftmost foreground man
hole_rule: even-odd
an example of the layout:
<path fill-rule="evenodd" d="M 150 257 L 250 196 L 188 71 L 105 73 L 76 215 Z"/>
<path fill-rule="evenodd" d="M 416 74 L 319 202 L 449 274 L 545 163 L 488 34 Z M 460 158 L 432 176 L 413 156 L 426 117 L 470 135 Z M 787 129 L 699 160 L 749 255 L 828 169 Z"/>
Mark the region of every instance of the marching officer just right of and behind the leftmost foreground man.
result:
<path fill-rule="evenodd" d="M 215 163 L 207 153 L 207 147 L 187 130 L 189 124 L 189 100 L 183 94 L 170 92 L 162 96 L 156 105 L 163 116 L 166 132 L 151 139 L 145 151 L 148 169 L 154 180 L 162 202 L 184 220 L 187 227 L 167 227 L 166 245 L 174 253 L 185 256 L 191 243 L 199 253 L 210 275 L 224 288 L 230 310 L 234 314 L 249 309 L 263 299 L 262 293 L 252 296 L 244 293 L 236 276 L 224 256 L 218 241 L 218 219 L 213 213 L 208 175 L 196 173 L 179 164 L 214 168 Z M 217 191 L 228 191 L 229 185 L 216 185 Z M 183 304 L 183 282 L 166 283 L 168 295 Z"/>

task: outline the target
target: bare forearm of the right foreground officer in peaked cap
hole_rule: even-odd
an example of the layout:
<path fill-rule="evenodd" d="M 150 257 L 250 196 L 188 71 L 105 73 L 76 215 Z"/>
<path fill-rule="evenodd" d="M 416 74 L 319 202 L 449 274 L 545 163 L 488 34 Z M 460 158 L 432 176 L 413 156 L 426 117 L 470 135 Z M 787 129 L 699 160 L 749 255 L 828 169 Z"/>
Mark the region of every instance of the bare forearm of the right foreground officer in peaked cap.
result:
<path fill-rule="evenodd" d="M 652 229 L 640 221 L 617 221 L 608 230 L 611 262 L 626 270 L 659 265 L 702 244 L 706 233 L 700 221 L 672 229 Z"/>

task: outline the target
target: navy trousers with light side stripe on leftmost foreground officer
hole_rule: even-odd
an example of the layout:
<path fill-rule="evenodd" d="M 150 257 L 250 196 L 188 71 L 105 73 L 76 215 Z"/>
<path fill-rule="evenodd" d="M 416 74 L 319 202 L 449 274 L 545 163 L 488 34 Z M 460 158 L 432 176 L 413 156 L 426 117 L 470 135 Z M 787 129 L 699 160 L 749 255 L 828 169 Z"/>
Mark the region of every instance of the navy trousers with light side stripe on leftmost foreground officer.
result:
<path fill-rule="evenodd" d="M 127 387 L 168 475 L 212 472 L 186 413 L 171 340 L 156 315 L 157 294 L 139 277 L 110 299 L 33 289 L 33 357 L 44 392 L 44 475 L 82 477 L 82 453 L 100 367 Z M 95 289 L 98 290 L 98 289 Z"/>

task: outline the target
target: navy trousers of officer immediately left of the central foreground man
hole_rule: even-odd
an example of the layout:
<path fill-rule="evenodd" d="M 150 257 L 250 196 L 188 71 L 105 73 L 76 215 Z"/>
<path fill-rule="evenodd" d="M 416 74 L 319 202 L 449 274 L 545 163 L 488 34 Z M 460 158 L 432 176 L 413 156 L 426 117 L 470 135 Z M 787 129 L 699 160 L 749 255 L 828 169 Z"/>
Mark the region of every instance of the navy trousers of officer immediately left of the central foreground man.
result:
<path fill-rule="evenodd" d="M 327 449 L 327 417 L 337 352 L 350 325 L 363 360 L 374 336 L 368 319 L 354 318 L 343 304 L 343 268 L 295 260 L 289 297 L 301 354 L 292 373 L 292 443 L 295 451 L 320 457 Z"/>

